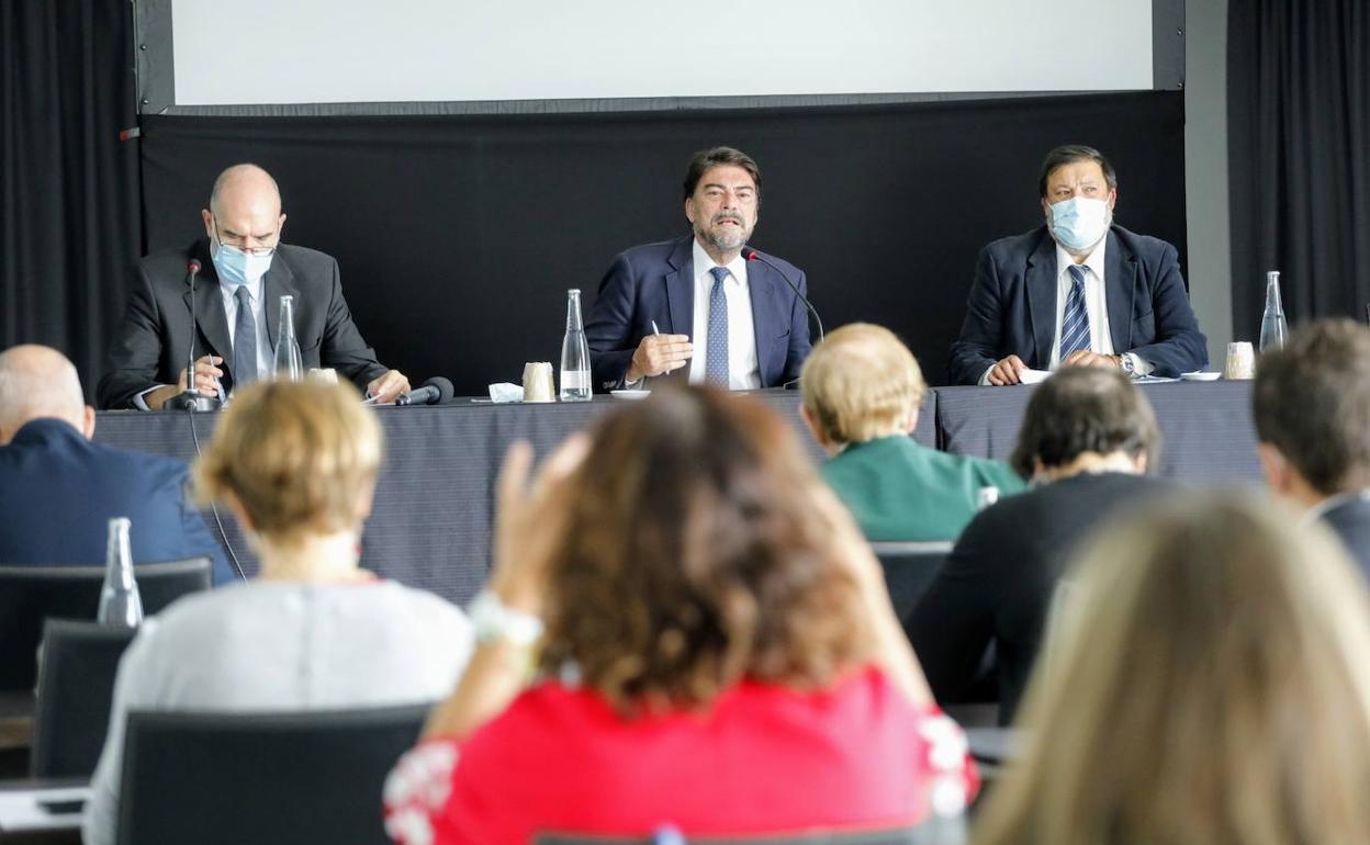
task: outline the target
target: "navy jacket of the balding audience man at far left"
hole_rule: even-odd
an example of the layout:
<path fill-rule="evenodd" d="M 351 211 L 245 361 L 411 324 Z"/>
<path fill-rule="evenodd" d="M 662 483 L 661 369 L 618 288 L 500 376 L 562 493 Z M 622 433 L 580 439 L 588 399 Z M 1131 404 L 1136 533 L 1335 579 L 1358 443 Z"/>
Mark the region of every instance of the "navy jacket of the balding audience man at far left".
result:
<path fill-rule="evenodd" d="M 108 520 L 127 516 L 134 563 L 208 555 L 214 582 L 233 579 L 223 548 L 185 500 L 184 460 L 127 452 L 34 419 L 0 446 L 0 564 L 104 566 Z"/>

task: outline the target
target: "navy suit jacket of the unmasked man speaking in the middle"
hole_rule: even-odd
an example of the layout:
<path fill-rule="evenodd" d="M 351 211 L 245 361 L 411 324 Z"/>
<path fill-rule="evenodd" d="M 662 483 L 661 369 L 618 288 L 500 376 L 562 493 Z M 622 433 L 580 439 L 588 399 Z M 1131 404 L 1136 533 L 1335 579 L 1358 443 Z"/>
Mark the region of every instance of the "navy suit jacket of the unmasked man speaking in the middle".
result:
<path fill-rule="evenodd" d="M 622 386 L 633 352 L 652 333 L 652 320 L 662 334 L 695 334 L 693 241 L 690 234 L 633 247 L 621 252 L 604 274 L 585 320 L 585 340 L 599 390 Z M 764 257 L 808 296 L 801 270 L 773 255 Z M 810 349 L 808 310 L 785 279 L 762 262 L 747 264 L 747 286 L 752 297 L 762 386 L 774 388 L 799 378 Z"/>

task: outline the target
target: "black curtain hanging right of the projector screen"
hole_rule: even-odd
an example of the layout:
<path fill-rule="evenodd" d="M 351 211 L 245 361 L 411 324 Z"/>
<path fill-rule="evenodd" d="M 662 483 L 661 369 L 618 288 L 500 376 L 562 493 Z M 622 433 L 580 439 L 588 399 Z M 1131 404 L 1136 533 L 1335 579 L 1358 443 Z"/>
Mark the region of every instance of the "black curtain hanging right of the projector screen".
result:
<path fill-rule="evenodd" d="M 1228 12 L 1232 315 L 1255 338 L 1265 271 L 1291 323 L 1370 303 L 1370 4 L 1244 0 Z"/>

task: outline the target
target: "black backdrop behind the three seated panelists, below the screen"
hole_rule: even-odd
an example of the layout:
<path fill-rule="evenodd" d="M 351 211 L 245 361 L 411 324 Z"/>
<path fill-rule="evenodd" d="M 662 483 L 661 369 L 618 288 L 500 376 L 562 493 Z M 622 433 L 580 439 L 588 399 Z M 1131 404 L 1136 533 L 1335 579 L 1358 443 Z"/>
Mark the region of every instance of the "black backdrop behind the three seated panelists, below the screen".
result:
<path fill-rule="evenodd" d="M 808 273 L 823 322 L 891 326 L 934 383 L 977 251 L 1041 222 L 1037 168 L 1062 142 L 1108 153 L 1118 222 L 1185 255 L 1184 96 L 1145 92 L 917 105 L 595 115 L 189 118 L 142 123 L 149 249 L 201 234 L 221 168 L 281 184 L 285 240 L 341 263 L 384 363 L 463 394 L 560 357 L 619 251 L 688 231 L 690 153 L 762 167 L 759 249 Z"/>

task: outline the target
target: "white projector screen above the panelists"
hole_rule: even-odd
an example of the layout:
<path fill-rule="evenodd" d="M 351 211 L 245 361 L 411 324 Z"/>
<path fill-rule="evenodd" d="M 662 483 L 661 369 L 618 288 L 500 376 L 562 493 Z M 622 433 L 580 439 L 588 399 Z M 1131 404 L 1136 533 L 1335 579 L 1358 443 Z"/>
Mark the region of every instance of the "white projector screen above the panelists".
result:
<path fill-rule="evenodd" d="M 1155 79 L 1152 0 L 170 10 L 175 105 L 1149 90 Z"/>

